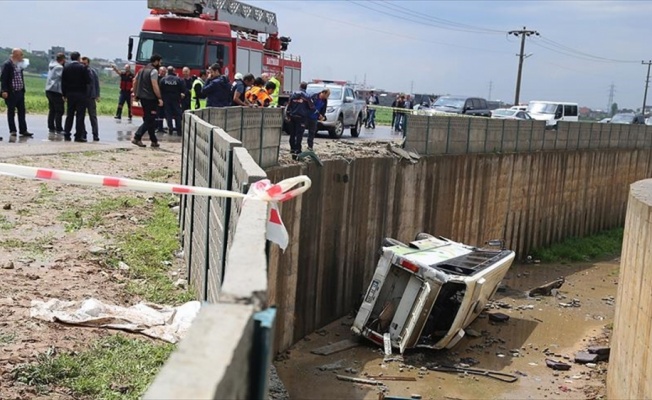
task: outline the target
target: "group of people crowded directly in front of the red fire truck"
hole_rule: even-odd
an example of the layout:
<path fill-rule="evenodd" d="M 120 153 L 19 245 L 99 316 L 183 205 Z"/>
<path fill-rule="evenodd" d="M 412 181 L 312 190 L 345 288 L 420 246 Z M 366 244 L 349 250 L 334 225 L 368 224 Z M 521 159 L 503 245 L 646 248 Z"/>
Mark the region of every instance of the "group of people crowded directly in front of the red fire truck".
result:
<path fill-rule="evenodd" d="M 181 134 L 181 115 L 185 110 L 203 107 L 273 107 L 278 105 L 281 88 L 281 73 L 274 76 L 264 73 L 256 78 L 253 74 L 235 74 L 233 82 L 223 74 L 222 65 L 215 63 L 199 76 L 191 76 L 190 68 L 183 67 L 182 76 L 177 76 L 174 67 L 162 66 L 162 58 L 155 54 L 149 64 L 137 75 L 129 66 L 120 75 L 120 100 L 115 119 L 122 118 L 123 104 L 127 102 L 131 119 L 129 99 L 134 98 L 143 108 L 143 124 L 136 131 L 132 143 L 145 147 L 143 135 L 147 133 L 152 147 L 159 147 L 156 133 L 168 131 Z M 115 68 L 115 67 L 114 67 Z M 131 83 L 129 83 L 131 82 Z"/>

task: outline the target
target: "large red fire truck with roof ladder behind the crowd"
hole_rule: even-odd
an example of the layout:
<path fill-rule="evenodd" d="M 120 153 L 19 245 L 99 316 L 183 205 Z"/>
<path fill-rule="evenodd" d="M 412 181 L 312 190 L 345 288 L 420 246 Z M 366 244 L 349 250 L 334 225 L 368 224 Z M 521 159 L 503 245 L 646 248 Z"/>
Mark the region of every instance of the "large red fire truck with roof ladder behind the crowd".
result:
<path fill-rule="evenodd" d="M 282 72 L 279 104 L 299 89 L 301 58 L 286 53 L 291 39 L 279 36 L 276 14 L 237 0 L 148 0 L 150 16 L 138 36 L 129 38 L 129 60 L 138 39 L 135 71 L 160 54 L 163 65 L 191 74 L 219 62 L 233 80 L 236 73 Z M 142 115 L 137 104 L 134 114 Z"/>

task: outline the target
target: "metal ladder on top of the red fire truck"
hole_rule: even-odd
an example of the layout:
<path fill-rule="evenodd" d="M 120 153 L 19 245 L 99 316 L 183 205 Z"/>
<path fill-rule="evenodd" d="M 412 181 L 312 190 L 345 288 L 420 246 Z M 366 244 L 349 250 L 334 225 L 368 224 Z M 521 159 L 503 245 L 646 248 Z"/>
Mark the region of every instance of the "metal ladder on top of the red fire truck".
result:
<path fill-rule="evenodd" d="M 278 33 L 276 13 L 237 0 L 147 0 L 147 7 L 181 15 L 217 15 L 234 30 L 248 33 Z"/>

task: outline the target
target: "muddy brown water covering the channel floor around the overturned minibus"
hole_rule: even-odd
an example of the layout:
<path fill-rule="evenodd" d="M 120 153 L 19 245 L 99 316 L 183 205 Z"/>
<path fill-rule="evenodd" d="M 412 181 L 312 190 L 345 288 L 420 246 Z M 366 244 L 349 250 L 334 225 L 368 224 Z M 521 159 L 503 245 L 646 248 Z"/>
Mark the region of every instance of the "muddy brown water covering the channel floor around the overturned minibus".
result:
<path fill-rule="evenodd" d="M 608 363 L 575 364 L 574 356 L 591 344 L 607 344 L 605 332 L 613 321 L 618 260 L 595 264 L 515 265 L 493 308 L 469 328 L 478 337 L 464 337 L 450 350 L 413 350 L 402 360 L 384 362 L 382 351 L 370 342 L 328 356 L 315 348 L 351 338 L 351 318 L 343 318 L 299 341 L 277 357 L 276 367 L 292 399 L 378 399 L 387 396 L 424 399 L 588 399 L 604 393 Z M 557 296 L 529 298 L 527 292 L 559 277 L 565 282 Z M 488 313 L 501 312 L 507 322 L 492 322 Z M 468 331 L 468 330 L 467 330 Z M 545 359 L 571 365 L 553 371 Z M 476 369 L 499 371 L 518 380 L 506 383 L 485 376 L 430 371 L 434 364 L 464 363 Z M 321 368 L 320 368 L 321 367 Z M 384 386 L 340 381 L 336 375 L 368 378 L 379 375 L 416 381 L 383 381 Z M 380 378 L 379 380 L 382 380 Z"/>

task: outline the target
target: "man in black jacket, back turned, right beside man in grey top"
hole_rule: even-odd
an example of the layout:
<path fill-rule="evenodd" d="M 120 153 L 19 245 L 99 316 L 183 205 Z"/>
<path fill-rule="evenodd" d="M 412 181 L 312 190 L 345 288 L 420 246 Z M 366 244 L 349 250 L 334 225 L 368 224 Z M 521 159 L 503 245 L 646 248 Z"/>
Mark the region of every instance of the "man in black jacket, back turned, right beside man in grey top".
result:
<path fill-rule="evenodd" d="M 80 54 L 77 51 L 70 53 L 72 62 L 63 67 L 61 75 L 61 91 L 63 97 L 68 101 L 68 112 L 66 113 L 66 124 L 64 126 L 64 140 L 70 141 L 72 122 L 75 120 L 75 142 L 86 142 L 84 139 L 84 118 L 86 118 L 86 106 L 88 101 L 88 85 L 91 83 L 91 75 L 88 68 L 79 62 Z"/>

